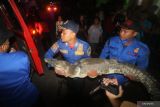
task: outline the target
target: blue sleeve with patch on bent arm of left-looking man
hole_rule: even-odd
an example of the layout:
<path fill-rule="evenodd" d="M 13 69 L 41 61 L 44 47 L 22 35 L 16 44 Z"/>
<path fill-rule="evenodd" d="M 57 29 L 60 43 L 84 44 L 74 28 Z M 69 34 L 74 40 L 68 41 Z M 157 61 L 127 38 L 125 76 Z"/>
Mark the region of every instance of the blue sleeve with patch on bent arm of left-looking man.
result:
<path fill-rule="evenodd" d="M 48 51 L 45 53 L 44 57 L 45 58 L 53 58 L 53 56 L 58 52 L 59 50 L 59 45 L 58 42 L 54 43 Z"/>

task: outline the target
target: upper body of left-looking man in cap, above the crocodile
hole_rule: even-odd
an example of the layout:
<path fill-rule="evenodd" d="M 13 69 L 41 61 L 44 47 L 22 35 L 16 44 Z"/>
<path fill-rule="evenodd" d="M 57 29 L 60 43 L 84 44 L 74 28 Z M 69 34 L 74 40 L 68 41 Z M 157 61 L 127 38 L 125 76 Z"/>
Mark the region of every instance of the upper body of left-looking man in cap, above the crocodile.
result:
<path fill-rule="evenodd" d="M 62 28 L 61 39 L 45 53 L 45 58 L 53 58 L 58 52 L 62 53 L 65 60 L 72 64 L 82 58 L 89 58 L 91 52 L 89 44 L 76 38 L 79 30 L 78 24 L 69 20 L 62 25 Z"/>

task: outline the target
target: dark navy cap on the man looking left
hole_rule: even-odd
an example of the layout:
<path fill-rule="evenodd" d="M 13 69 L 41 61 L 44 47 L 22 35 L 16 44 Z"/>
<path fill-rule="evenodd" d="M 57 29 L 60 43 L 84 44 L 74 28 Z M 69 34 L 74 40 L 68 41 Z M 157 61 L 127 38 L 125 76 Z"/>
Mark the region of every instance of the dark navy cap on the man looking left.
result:
<path fill-rule="evenodd" d="M 79 25 L 72 20 L 67 20 L 63 23 L 62 28 L 69 29 L 72 30 L 74 33 L 77 33 L 79 30 Z"/>

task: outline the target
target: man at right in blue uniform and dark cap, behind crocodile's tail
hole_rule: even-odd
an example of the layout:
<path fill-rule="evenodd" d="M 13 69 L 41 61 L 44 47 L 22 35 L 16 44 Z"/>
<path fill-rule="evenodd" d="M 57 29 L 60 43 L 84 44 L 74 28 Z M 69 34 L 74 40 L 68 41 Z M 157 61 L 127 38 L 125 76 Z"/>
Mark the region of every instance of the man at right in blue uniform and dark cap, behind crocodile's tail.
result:
<path fill-rule="evenodd" d="M 126 20 L 121 25 L 119 35 L 110 38 L 100 54 L 100 58 L 115 59 L 121 63 L 129 63 L 141 70 L 146 70 L 149 62 L 149 48 L 144 43 L 135 39 L 140 26 L 133 20 Z M 120 84 L 127 81 L 122 75 L 109 75 L 116 77 Z"/>

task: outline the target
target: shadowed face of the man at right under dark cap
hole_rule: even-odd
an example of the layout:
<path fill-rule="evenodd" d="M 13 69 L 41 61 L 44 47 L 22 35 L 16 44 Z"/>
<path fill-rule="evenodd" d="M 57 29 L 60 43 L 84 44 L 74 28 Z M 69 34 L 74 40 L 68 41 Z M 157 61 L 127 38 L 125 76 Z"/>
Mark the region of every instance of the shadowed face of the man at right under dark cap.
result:
<path fill-rule="evenodd" d="M 120 38 L 122 40 L 134 38 L 137 35 L 137 32 L 131 29 L 121 28 Z"/>

